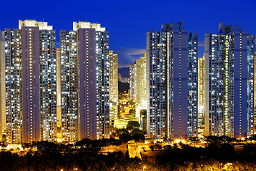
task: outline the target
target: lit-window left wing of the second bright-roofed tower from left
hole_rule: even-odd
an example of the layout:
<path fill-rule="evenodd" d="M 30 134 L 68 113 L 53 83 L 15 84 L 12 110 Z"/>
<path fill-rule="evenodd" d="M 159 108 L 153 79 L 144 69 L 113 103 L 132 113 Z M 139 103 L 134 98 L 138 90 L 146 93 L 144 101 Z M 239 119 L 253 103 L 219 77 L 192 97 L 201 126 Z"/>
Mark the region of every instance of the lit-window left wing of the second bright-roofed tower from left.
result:
<path fill-rule="evenodd" d="M 79 70 L 75 31 L 60 31 L 60 52 L 61 141 L 75 141 L 79 139 Z"/>

